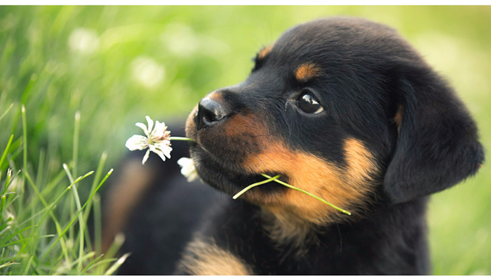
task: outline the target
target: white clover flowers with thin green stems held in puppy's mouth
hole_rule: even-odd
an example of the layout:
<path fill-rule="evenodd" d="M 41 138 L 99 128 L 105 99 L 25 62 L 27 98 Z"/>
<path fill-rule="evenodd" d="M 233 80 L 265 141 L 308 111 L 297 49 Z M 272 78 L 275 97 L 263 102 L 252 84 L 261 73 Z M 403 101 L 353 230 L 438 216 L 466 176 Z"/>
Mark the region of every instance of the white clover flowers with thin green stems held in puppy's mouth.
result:
<path fill-rule="evenodd" d="M 159 155 L 163 161 L 165 161 L 166 158 L 170 158 L 170 151 L 172 151 L 172 148 L 170 147 L 170 141 L 176 140 L 176 141 L 194 142 L 194 139 L 187 138 L 187 137 L 170 137 L 170 131 L 167 130 L 167 126 L 165 123 L 163 122 L 159 123 L 159 121 L 156 121 L 154 126 L 154 120 L 149 118 L 149 116 L 147 116 L 146 118 L 147 118 L 148 125 L 144 125 L 142 123 L 136 123 L 136 126 L 140 127 L 143 130 L 145 137 L 142 135 L 133 135 L 132 137 L 130 137 L 130 139 L 128 139 L 128 141 L 126 141 L 126 147 L 130 149 L 130 151 L 144 150 L 148 148 L 147 153 L 145 153 L 143 157 L 142 165 L 144 165 L 144 163 L 148 160 L 150 151 Z M 177 163 L 181 166 L 181 174 L 187 178 L 188 182 L 194 181 L 198 178 L 198 173 L 196 172 L 196 168 L 194 167 L 194 162 L 192 159 L 181 158 L 180 160 L 177 161 Z M 276 183 L 279 183 L 285 187 L 291 188 L 293 190 L 298 190 L 306 195 L 310 195 L 311 197 L 314 197 L 316 200 L 328 204 L 330 207 L 336 209 L 337 211 L 341 211 L 344 214 L 351 215 L 349 211 L 341 209 L 336 205 L 323 200 L 321 197 L 318 197 L 305 190 L 302 190 L 300 188 L 297 188 L 288 183 L 278 180 L 278 178 L 280 177 L 279 175 L 276 175 L 274 177 L 268 176 L 266 174 L 261 174 L 261 175 L 266 177 L 267 180 L 253 183 L 243 188 L 243 190 L 241 190 L 236 195 L 234 195 L 233 197 L 234 200 L 236 200 L 238 197 L 243 195 L 243 193 L 247 192 L 251 188 L 264 185 L 265 183 L 269 183 L 271 181 L 275 181 Z"/>

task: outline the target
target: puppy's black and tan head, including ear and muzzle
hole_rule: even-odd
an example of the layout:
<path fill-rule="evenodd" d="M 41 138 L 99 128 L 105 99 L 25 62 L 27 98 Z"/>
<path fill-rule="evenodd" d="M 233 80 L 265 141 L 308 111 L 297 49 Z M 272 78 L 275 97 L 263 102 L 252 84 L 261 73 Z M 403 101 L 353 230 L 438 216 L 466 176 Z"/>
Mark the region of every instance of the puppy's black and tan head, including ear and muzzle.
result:
<path fill-rule="evenodd" d="M 396 31 L 330 18 L 285 31 L 250 76 L 208 94 L 186 127 L 203 181 L 234 195 L 261 173 L 354 211 L 448 188 L 483 162 L 463 104 Z M 339 213 L 268 183 L 243 198 L 324 223 Z"/>

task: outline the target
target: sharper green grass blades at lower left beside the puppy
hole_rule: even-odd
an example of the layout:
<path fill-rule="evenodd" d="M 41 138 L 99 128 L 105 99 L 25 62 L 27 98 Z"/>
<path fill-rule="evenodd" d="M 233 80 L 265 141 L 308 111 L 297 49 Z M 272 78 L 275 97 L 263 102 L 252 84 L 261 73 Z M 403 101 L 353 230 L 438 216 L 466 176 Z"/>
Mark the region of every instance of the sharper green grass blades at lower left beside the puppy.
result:
<path fill-rule="evenodd" d="M 102 255 L 100 251 L 100 225 L 93 227 L 97 230 L 93 233 L 97 240 L 97 248 L 92 248 L 88 231 L 88 217 L 90 211 L 94 211 L 94 221 L 100 223 L 100 207 L 92 208 L 93 198 L 102 187 L 112 169 L 103 175 L 106 154 L 103 153 L 97 172 L 93 176 L 90 195 L 82 205 L 81 197 L 77 191 L 77 185 L 83 184 L 89 176 L 94 174 L 89 171 L 83 176 L 74 178 L 76 174 L 76 151 L 71 168 L 63 164 L 69 184 L 54 176 L 46 183 L 39 179 L 41 174 L 35 175 L 30 169 L 27 160 L 27 112 L 25 106 L 21 106 L 22 118 L 22 145 L 11 150 L 13 135 L 1 155 L 0 166 L 8 159 L 6 177 L 1 186 L 0 205 L 0 272 L 4 275 L 16 274 L 105 274 L 112 273 L 121 265 L 121 260 L 116 262 L 114 252 Z M 79 122 L 80 114 L 75 115 L 75 123 Z M 75 124 L 74 147 L 77 146 L 79 133 Z M 13 155 L 22 152 L 22 164 L 20 168 L 15 165 Z M 43 156 L 41 156 L 43 158 Z M 42 162 L 42 161 L 41 161 Z M 43 170 L 43 163 L 39 169 Z M 4 174 L 2 171 L 1 175 Z M 68 193 L 72 191 L 72 196 Z M 62 213 L 67 209 L 68 214 Z M 119 244 L 121 246 L 121 244 Z M 109 266 L 111 265 L 111 266 Z M 95 269 L 97 267 L 97 269 Z"/>

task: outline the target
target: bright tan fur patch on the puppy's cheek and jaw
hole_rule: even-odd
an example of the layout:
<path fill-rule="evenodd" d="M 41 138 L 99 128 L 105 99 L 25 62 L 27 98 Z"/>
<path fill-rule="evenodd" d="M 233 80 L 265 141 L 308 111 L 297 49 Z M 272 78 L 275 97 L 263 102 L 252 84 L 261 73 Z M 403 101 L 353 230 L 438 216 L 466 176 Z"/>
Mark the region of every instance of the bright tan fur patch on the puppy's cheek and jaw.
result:
<path fill-rule="evenodd" d="M 372 191 L 373 178 L 378 173 L 378 167 L 372 153 L 361 141 L 344 141 L 347 165 L 343 167 L 316 155 L 292 151 L 283 143 L 278 139 L 271 141 L 267 149 L 257 155 L 250 155 L 243 167 L 256 174 L 286 174 L 288 183 L 292 186 L 322 197 L 348 211 L 360 209 L 367 204 L 368 193 Z M 254 200 L 259 200 L 263 207 L 278 214 L 294 212 L 300 218 L 317 224 L 332 219 L 330 214 L 340 213 L 314 197 L 291 189 L 281 195 L 257 194 Z"/>

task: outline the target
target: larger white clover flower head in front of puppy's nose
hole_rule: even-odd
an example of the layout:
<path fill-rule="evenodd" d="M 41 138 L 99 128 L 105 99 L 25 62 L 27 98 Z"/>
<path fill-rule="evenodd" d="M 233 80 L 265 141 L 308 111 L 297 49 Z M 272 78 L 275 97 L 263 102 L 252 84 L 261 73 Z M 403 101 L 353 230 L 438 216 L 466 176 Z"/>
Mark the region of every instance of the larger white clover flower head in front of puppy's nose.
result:
<path fill-rule="evenodd" d="M 141 135 L 133 135 L 126 141 L 126 148 L 130 151 L 144 150 L 148 148 L 147 153 L 145 153 L 142 165 L 148 160 L 150 151 L 159 155 L 159 157 L 165 162 L 166 157 L 170 158 L 170 131 L 167 131 L 165 123 L 160 123 L 158 120 L 155 122 L 147 116 L 148 127 L 142 123 L 137 123 L 136 126 L 140 127 L 147 137 Z M 153 128 L 153 130 L 152 130 Z"/>

